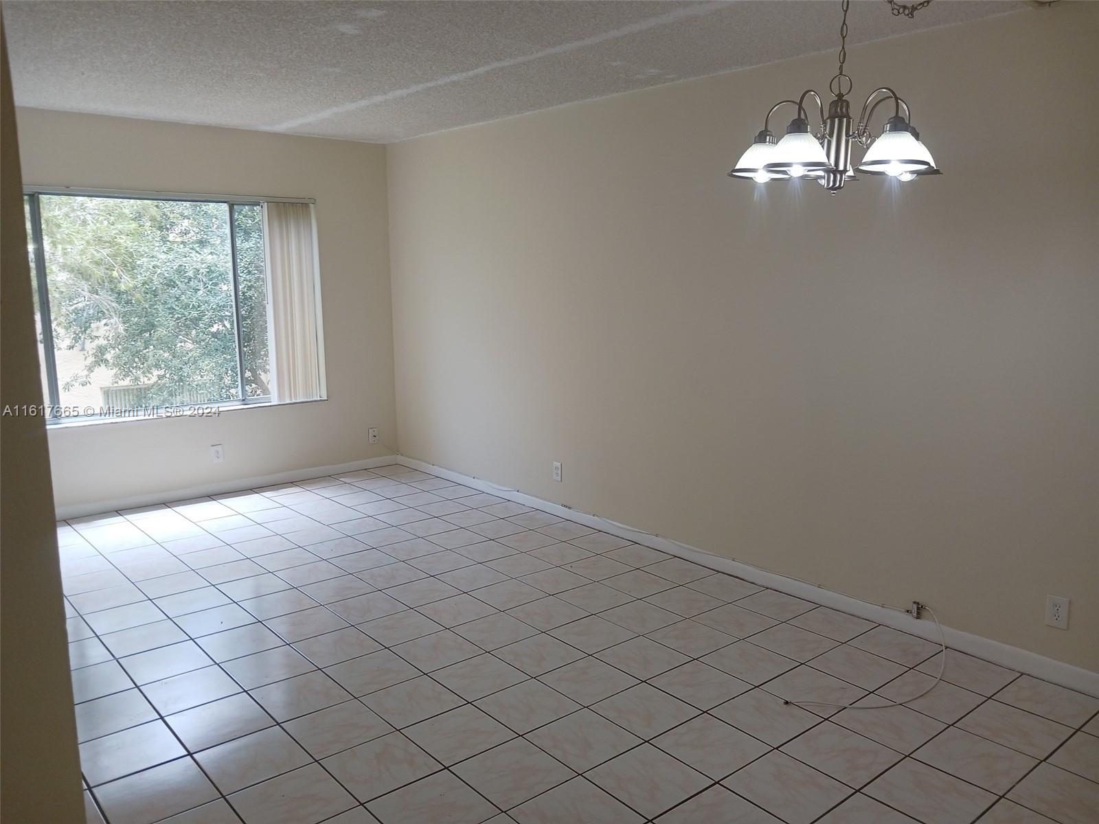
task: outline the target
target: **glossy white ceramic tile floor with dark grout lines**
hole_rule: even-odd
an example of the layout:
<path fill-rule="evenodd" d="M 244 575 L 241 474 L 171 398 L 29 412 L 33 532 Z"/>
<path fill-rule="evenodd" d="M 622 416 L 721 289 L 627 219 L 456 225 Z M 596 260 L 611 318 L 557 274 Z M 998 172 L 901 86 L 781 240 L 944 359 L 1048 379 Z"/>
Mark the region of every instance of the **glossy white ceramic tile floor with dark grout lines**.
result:
<path fill-rule="evenodd" d="M 1099 821 L 1099 699 L 403 466 L 58 538 L 88 822 Z"/>

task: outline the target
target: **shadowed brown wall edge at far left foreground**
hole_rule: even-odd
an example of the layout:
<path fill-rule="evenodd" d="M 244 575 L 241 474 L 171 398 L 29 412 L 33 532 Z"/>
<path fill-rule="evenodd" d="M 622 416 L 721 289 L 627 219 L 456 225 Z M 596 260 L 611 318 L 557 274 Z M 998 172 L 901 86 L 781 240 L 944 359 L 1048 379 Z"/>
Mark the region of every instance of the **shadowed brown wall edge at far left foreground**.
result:
<path fill-rule="evenodd" d="M 23 253 L 26 234 L 7 44 L 0 54 L 0 407 L 37 405 L 42 383 Z M 82 821 L 57 533 L 41 417 L 0 417 L 0 820 Z"/>

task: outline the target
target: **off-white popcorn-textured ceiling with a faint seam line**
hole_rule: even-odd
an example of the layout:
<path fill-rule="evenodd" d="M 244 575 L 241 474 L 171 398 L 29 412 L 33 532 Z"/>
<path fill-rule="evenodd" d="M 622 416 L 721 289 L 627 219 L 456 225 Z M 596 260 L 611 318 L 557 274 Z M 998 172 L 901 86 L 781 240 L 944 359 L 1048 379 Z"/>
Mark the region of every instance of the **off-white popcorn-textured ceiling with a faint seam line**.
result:
<path fill-rule="evenodd" d="M 939 0 L 909 20 L 856 0 L 848 42 L 1019 8 Z M 21 105 L 391 142 L 830 51 L 840 3 L 7 0 L 3 16 Z"/>

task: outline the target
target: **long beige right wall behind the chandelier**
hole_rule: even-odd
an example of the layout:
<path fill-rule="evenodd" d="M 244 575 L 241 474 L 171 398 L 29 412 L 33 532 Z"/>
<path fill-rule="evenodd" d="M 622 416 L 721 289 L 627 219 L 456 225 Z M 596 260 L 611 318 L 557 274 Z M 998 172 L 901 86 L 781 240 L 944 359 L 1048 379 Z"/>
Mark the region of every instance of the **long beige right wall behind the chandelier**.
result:
<path fill-rule="evenodd" d="M 401 452 L 1099 669 L 1097 21 L 853 48 L 902 189 L 725 178 L 830 54 L 391 146 Z"/>

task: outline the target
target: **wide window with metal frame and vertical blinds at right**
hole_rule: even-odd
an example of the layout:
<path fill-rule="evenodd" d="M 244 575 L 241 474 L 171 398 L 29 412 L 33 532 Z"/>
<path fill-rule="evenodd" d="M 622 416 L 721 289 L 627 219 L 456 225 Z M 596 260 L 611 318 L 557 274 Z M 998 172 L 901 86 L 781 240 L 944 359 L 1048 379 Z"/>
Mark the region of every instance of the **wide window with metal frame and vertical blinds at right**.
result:
<path fill-rule="evenodd" d="M 32 191 L 26 220 L 53 422 L 323 397 L 308 203 Z"/>

